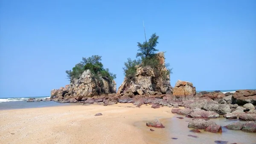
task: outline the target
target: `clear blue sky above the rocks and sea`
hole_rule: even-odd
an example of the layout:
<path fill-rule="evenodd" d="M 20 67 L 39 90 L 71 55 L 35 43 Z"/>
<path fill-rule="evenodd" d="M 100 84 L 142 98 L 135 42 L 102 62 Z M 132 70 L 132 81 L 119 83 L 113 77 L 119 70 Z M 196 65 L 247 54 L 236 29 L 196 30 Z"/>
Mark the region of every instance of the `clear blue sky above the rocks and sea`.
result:
<path fill-rule="evenodd" d="M 145 40 L 143 20 L 173 67 L 172 86 L 256 89 L 255 0 L 0 0 L 0 97 L 50 95 L 91 55 L 118 88 Z"/>

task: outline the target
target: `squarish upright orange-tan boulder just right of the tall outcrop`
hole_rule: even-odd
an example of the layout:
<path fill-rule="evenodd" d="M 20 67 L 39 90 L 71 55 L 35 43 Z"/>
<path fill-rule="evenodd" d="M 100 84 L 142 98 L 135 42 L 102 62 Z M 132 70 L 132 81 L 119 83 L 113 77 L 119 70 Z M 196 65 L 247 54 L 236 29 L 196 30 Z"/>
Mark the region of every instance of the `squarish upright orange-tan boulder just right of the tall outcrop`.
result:
<path fill-rule="evenodd" d="M 196 95 L 195 87 L 191 82 L 178 80 L 173 89 L 174 101 L 194 100 Z"/>

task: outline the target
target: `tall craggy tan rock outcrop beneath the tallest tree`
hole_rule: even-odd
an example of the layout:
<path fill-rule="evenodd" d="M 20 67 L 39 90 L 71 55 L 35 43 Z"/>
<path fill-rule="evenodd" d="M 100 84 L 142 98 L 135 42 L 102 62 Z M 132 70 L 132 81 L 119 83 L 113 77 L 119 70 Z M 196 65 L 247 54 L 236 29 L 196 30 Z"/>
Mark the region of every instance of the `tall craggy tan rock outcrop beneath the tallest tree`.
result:
<path fill-rule="evenodd" d="M 117 95 L 124 95 L 125 93 L 133 93 L 134 95 L 156 95 L 158 92 L 166 94 L 172 92 L 169 75 L 159 75 L 167 72 L 165 66 L 164 53 L 157 53 L 157 58 L 160 61 L 161 67 L 156 72 L 150 66 L 137 66 L 137 74 L 133 80 L 124 78 L 121 86 L 117 90 Z"/>

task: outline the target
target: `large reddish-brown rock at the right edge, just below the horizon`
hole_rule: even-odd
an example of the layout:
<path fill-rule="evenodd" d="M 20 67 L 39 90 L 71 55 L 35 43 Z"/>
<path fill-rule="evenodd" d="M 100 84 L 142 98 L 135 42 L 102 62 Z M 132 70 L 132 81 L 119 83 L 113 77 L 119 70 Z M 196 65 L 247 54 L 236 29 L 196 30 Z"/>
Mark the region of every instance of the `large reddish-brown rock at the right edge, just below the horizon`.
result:
<path fill-rule="evenodd" d="M 247 103 L 256 105 L 256 90 L 237 90 L 233 93 L 232 104 L 244 105 Z"/>

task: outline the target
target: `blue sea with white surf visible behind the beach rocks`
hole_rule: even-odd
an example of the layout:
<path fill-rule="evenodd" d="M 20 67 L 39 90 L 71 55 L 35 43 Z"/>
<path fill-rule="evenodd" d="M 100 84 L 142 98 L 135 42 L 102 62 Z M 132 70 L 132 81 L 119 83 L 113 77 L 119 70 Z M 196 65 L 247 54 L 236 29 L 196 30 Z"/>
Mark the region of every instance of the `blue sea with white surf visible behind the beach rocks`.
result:
<path fill-rule="evenodd" d="M 237 89 L 221 90 L 221 92 L 236 92 Z M 251 89 L 256 90 L 256 89 Z M 205 90 L 207 92 L 213 92 L 215 90 Z M 202 91 L 197 91 L 202 92 Z M 35 98 L 35 102 L 27 102 L 29 98 Z M 0 110 L 5 109 L 26 109 L 26 108 L 36 108 L 36 107 L 55 107 L 72 105 L 73 103 L 57 103 L 55 101 L 36 101 L 37 99 L 45 99 L 50 97 L 16 97 L 16 98 L 0 98 Z"/>

